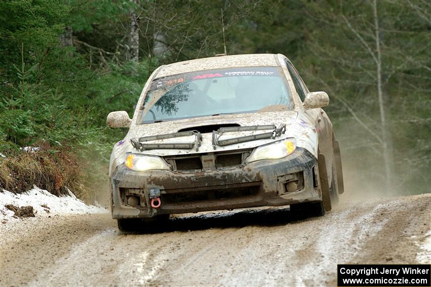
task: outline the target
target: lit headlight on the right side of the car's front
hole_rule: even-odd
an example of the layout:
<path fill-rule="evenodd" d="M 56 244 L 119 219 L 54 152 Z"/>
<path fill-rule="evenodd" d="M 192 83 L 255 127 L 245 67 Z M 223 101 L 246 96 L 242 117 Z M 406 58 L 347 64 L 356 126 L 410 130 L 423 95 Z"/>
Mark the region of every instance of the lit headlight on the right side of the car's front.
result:
<path fill-rule="evenodd" d="M 296 149 L 294 138 L 285 139 L 276 143 L 257 147 L 245 162 L 253 162 L 261 159 L 278 159 L 293 153 Z"/>

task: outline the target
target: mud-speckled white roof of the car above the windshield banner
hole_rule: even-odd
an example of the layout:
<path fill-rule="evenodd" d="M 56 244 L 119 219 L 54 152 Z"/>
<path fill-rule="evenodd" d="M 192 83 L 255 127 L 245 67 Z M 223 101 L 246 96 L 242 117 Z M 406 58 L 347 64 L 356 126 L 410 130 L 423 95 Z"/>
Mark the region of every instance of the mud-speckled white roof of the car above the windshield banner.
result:
<path fill-rule="evenodd" d="M 235 68 L 279 66 L 276 54 L 245 54 L 194 59 L 161 66 L 156 77 L 188 73 L 193 71 Z"/>

